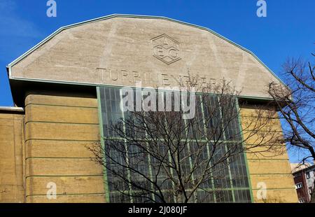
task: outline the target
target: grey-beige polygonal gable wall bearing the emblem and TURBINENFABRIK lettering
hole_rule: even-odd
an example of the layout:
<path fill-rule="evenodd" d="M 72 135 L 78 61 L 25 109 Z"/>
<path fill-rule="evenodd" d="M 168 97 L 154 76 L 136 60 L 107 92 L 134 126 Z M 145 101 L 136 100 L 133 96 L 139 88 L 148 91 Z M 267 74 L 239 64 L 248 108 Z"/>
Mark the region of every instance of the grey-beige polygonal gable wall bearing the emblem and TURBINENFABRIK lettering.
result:
<path fill-rule="evenodd" d="M 162 54 L 175 61 L 155 57 L 157 45 L 176 48 Z M 141 81 L 155 87 L 177 85 L 188 71 L 214 83 L 232 80 L 241 95 L 251 97 L 269 97 L 267 85 L 279 82 L 249 52 L 210 31 L 170 20 L 119 17 L 61 31 L 13 65 L 11 76 L 131 86 Z"/>

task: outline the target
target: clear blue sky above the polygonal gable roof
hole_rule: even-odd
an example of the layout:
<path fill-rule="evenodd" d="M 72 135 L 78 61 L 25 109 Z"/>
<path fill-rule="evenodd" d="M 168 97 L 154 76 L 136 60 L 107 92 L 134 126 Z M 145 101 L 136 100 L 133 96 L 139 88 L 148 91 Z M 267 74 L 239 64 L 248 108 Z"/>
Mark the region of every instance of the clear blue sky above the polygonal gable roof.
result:
<path fill-rule="evenodd" d="M 57 18 L 48 18 L 46 0 L 0 0 L 0 106 L 13 105 L 7 64 L 59 27 L 113 13 L 161 15 L 208 27 L 253 51 L 280 78 L 287 57 L 309 59 L 315 48 L 314 0 L 266 0 L 266 18 L 256 15 L 257 0 L 55 1 Z"/>

